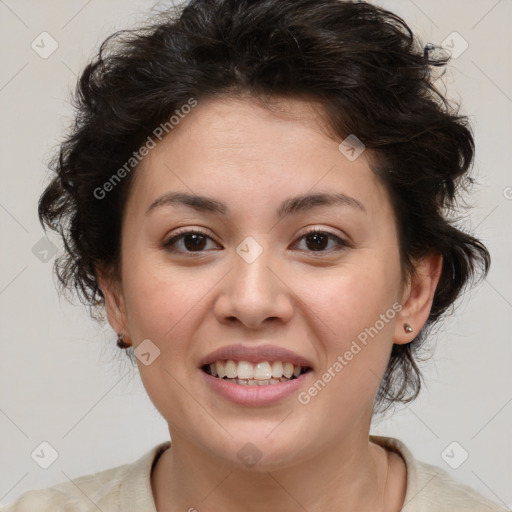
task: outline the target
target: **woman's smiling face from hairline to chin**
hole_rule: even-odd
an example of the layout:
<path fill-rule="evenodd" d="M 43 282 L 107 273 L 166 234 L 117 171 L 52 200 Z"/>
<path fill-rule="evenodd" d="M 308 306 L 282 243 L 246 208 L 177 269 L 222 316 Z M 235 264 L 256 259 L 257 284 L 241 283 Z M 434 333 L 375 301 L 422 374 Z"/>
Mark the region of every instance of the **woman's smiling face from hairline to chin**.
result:
<path fill-rule="evenodd" d="M 122 282 L 107 293 L 173 442 L 265 469 L 367 441 L 392 345 L 428 314 L 399 313 L 410 286 L 401 290 L 395 218 L 365 152 L 340 151 L 311 105 L 281 106 L 288 114 L 199 101 L 150 151 L 123 219 Z M 161 200 L 177 193 L 212 203 Z M 188 231 L 201 235 L 178 237 Z M 262 386 L 206 375 L 205 362 L 230 358 L 237 370 L 263 363 L 241 365 L 260 377 L 279 372 L 276 361 L 310 369 Z"/>

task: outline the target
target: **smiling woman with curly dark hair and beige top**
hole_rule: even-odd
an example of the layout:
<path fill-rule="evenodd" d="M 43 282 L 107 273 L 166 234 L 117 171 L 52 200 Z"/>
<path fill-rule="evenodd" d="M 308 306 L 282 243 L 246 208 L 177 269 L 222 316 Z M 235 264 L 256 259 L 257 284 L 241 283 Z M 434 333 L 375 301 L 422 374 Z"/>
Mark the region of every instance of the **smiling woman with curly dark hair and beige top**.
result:
<path fill-rule="evenodd" d="M 490 264 L 447 218 L 474 145 L 434 50 L 338 0 L 193 0 L 103 44 L 39 215 L 172 444 L 8 511 L 504 510 L 369 435 Z"/>

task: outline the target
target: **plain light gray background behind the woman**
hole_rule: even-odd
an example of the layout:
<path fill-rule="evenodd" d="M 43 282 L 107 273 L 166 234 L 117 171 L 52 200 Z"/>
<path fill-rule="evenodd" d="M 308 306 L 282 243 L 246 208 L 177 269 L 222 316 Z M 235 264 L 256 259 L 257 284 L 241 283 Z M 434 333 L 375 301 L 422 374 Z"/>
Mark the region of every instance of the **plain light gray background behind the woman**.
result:
<path fill-rule="evenodd" d="M 403 440 L 417 458 L 511 506 L 512 2 L 375 3 L 403 16 L 424 43 L 456 31 L 469 44 L 445 81 L 473 120 L 481 185 L 467 226 L 488 245 L 493 266 L 432 340 L 436 352 L 424 366 L 428 387 L 420 399 L 372 433 Z M 165 4 L 0 0 L 0 504 L 132 462 L 168 438 L 137 372 L 116 362 L 114 332 L 59 301 L 53 258 L 44 263 L 32 252 L 45 236 L 37 200 L 45 163 L 70 120 L 76 74 L 107 35 L 144 20 L 154 5 Z M 59 45 L 47 59 L 31 48 L 43 31 Z M 59 453 L 46 470 L 31 458 L 42 441 Z M 441 456 L 453 441 L 469 452 L 458 469 Z"/>

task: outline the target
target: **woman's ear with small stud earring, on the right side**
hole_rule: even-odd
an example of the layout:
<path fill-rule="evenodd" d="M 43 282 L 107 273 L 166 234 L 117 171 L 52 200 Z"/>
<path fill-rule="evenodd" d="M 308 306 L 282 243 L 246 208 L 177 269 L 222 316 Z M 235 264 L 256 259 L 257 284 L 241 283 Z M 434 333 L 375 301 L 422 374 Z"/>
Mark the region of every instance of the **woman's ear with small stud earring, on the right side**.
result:
<path fill-rule="evenodd" d="M 400 301 L 402 309 L 397 315 L 395 325 L 393 343 L 398 345 L 411 342 L 425 325 L 441 277 L 443 257 L 439 253 L 431 252 L 413 264 L 415 270 L 404 286 Z M 412 327 L 412 332 L 405 331 L 406 323 Z"/>

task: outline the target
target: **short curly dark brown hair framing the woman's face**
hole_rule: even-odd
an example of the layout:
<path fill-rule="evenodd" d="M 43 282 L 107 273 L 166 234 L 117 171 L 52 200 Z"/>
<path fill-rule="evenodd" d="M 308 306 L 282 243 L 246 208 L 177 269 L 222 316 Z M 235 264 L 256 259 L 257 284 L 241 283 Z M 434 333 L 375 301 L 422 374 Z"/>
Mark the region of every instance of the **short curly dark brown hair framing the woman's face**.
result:
<path fill-rule="evenodd" d="M 396 213 L 404 275 L 415 258 L 443 256 L 430 316 L 411 343 L 393 346 L 374 412 L 415 399 L 427 332 L 490 265 L 485 246 L 456 227 L 458 193 L 474 182 L 474 142 L 467 117 L 434 84 L 448 60 L 397 15 L 356 1 L 192 0 L 113 34 L 79 78 L 75 123 L 39 202 L 43 227 L 65 246 L 54 267 L 60 291 L 75 290 L 104 318 L 96 266 L 119 277 L 136 165 L 105 197 L 97 191 L 190 98 L 314 99 L 340 141 L 355 134 L 374 155 Z"/>

